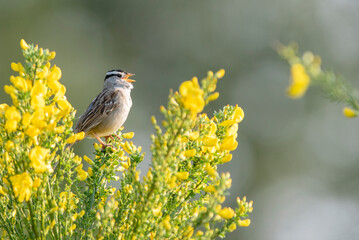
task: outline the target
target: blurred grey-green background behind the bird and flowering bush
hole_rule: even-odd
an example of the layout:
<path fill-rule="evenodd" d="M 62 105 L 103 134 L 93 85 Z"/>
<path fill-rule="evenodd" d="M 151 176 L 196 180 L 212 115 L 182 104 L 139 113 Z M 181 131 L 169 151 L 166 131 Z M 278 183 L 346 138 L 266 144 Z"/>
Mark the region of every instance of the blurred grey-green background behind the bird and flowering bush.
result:
<path fill-rule="evenodd" d="M 13 74 L 10 63 L 22 61 L 21 38 L 56 51 L 77 116 L 107 70 L 136 73 L 125 131 L 135 131 L 147 152 L 144 172 L 150 116 L 160 118 L 169 89 L 225 68 L 221 96 L 205 111 L 244 109 L 239 147 L 221 171 L 233 178 L 227 205 L 237 195 L 254 201 L 251 226 L 227 239 L 358 239 L 358 120 L 345 119 L 343 106 L 316 90 L 288 99 L 289 67 L 273 49 L 295 40 L 358 87 L 358 10 L 355 0 L 0 0 L 1 86 Z M 93 142 L 76 152 L 89 154 Z"/>

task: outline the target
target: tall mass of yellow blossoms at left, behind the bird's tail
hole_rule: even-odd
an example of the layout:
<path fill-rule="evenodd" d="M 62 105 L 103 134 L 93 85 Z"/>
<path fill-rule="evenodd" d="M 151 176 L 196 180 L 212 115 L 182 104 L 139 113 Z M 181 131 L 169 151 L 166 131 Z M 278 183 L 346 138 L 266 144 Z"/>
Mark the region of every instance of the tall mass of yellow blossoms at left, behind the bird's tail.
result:
<path fill-rule="evenodd" d="M 4 179 L 19 201 L 28 201 L 32 189 L 40 186 L 42 174 L 53 172 L 51 163 L 55 155 L 52 148 L 64 144 L 65 129 L 71 127 L 68 121 L 73 108 L 66 100 L 66 88 L 59 80 L 61 70 L 51 66 L 49 60 L 55 52 L 20 41 L 26 65 L 12 63 L 11 68 L 18 76 L 11 76 L 12 85 L 4 90 L 11 96 L 13 105 L 0 105 L 0 134 L 6 140 L 6 151 L 0 152 L 0 166 L 6 169 Z M 37 60 L 36 63 L 31 62 Z M 51 145 L 44 141 L 52 142 Z M 1 143 L 1 142 L 0 142 Z"/>

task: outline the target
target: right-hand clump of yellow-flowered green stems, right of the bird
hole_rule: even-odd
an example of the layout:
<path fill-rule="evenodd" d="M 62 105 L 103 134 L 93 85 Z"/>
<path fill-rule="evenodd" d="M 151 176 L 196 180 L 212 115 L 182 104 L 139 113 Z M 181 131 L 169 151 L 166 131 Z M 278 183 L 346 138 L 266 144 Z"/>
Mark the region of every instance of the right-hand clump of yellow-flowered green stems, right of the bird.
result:
<path fill-rule="evenodd" d="M 158 224 L 151 227 L 153 231 L 144 238 L 182 236 L 192 239 L 195 236 L 194 239 L 215 239 L 234 231 L 237 226 L 245 226 L 241 221 L 249 208 L 240 209 L 246 203 L 242 202 L 237 209 L 222 208 L 232 180 L 229 173 L 217 172 L 219 164 L 231 161 L 231 151 L 238 146 L 238 125 L 244 112 L 236 105 L 224 107 L 212 118 L 200 114 L 208 102 L 218 98 L 219 94 L 213 92 L 217 79 L 224 73 L 224 70 L 215 74 L 208 72 L 201 86 L 197 78 L 182 83 L 179 94 L 171 94 L 167 107 L 160 108 L 165 117 L 164 131 L 152 119 L 157 134 L 152 138 L 154 157 L 152 167 L 144 177 L 144 189 L 139 190 L 150 197 L 145 200 L 148 204 L 144 207 L 140 207 L 141 201 L 136 201 L 140 205 L 136 208 L 136 219 L 140 219 L 139 229 L 146 229 L 147 222 Z M 135 192 L 138 184 L 132 186 L 134 189 L 129 194 Z M 126 195 L 125 199 L 130 196 Z M 195 199 L 191 199 L 193 196 Z M 151 211 L 146 213 L 148 207 Z M 124 221 L 127 219 L 131 217 Z M 183 224 L 185 222 L 188 224 Z M 202 222 L 203 231 L 193 227 L 196 222 Z M 222 232 L 212 228 L 217 223 L 223 224 Z M 132 222 L 128 221 L 128 224 L 131 226 Z"/>

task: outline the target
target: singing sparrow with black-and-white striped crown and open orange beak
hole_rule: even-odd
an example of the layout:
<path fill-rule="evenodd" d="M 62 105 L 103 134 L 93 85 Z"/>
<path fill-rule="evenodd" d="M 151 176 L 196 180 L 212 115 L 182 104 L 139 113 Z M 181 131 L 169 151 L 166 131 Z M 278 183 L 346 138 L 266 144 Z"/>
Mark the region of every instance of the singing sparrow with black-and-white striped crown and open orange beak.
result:
<path fill-rule="evenodd" d="M 104 147 L 108 146 L 100 137 L 110 137 L 126 121 L 132 106 L 131 83 L 135 82 L 128 77 L 133 75 L 120 69 L 108 71 L 102 92 L 80 116 L 75 132 L 83 131 L 86 136 L 97 138 Z"/>

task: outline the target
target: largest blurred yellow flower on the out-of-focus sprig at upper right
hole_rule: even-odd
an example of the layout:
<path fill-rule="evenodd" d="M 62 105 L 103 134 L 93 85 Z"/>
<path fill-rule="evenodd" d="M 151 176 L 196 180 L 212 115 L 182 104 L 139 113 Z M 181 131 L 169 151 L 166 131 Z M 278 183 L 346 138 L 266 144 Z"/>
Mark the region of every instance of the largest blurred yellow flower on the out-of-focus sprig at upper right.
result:
<path fill-rule="evenodd" d="M 287 89 L 287 94 L 291 98 L 302 97 L 310 84 L 310 77 L 308 76 L 302 64 L 293 64 L 291 67 L 292 82 Z"/>

